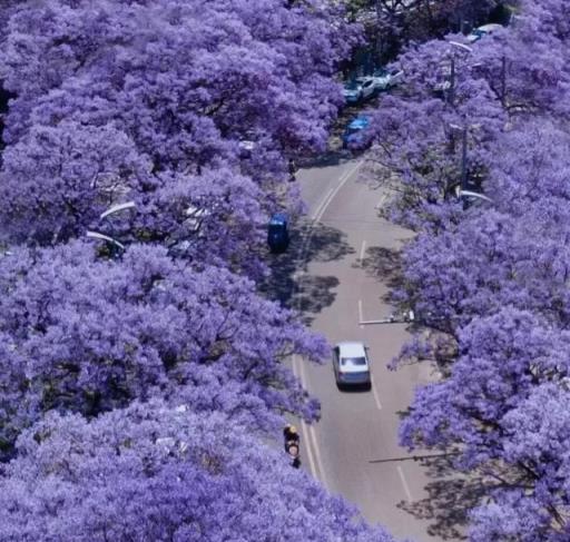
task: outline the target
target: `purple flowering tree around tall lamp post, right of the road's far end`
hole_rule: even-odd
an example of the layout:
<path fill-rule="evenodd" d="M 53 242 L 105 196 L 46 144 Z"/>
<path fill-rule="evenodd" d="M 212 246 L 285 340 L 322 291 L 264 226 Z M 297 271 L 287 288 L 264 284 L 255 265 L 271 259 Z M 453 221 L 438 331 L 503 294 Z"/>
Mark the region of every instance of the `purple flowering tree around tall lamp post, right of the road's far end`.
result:
<path fill-rule="evenodd" d="M 411 47 L 397 63 L 405 71 L 404 88 L 383 97 L 373 115 L 368 168 L 396 194 L 393 220 L 413 229 L 441 228 L 455 215 L 463 167 L 470 183 L 484 183 L 508 117 L 488 81 L 472 76 L 471 53 L 461 47 L 430 41 Z"/>

